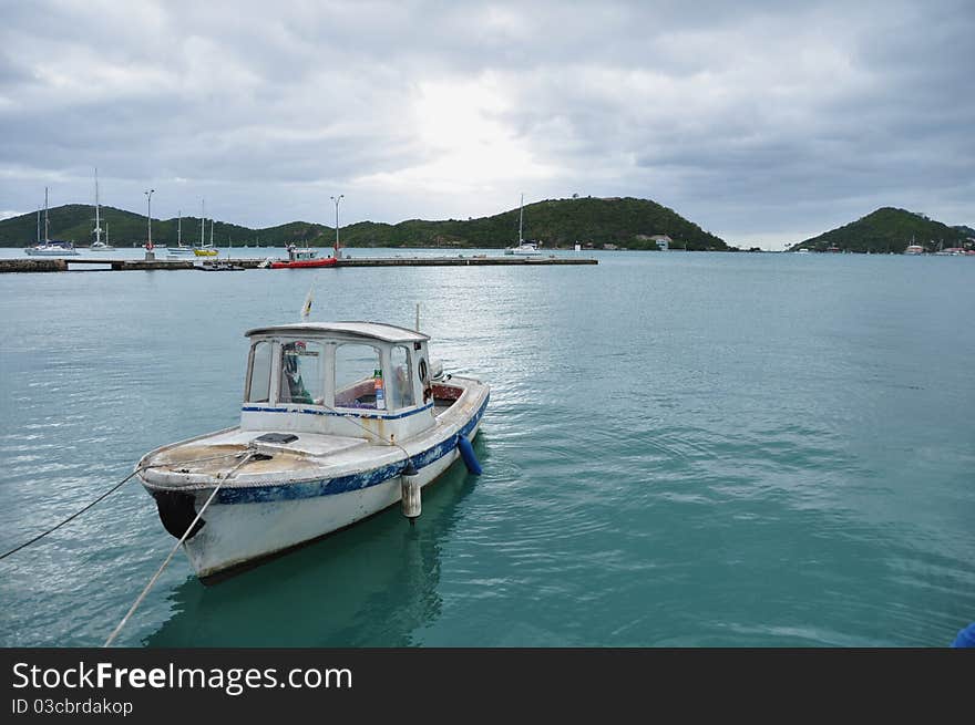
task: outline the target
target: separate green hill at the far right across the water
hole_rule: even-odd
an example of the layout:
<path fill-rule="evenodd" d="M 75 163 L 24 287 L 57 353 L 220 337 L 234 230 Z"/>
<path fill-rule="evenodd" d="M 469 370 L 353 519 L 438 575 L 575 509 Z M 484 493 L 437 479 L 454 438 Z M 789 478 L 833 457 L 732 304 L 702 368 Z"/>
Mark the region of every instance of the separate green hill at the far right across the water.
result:
<path fill-rule="evenodd" d="M 913 244 L 935 251 L 940 244 L 944 247 L 962 246 L 969 236 L 965 230 L 966 227 L 948 227 L 923 214 L 883 207 L 856 221 L 793 245 L 790 249 L 824 251 L 828 247 L 838 247 L 844 251 L 901 253 L 913 240 Z"/>

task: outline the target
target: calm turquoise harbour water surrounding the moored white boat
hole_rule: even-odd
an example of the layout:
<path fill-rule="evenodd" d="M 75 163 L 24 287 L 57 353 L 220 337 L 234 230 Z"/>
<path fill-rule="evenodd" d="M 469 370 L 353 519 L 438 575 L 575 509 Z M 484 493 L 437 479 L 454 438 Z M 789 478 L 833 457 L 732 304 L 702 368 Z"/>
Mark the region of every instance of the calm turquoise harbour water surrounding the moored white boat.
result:
<path fill-rule="evenodd" d="M 181 553 L 119 643 L 945 646 L 975 620 L 975 259 L 595 256 L 0 276 L 0 549 L 234 425 L 244 331 L 314 279 L 316 319 L 422 304 L 492 386 L 484 475 L 214 587 Z M 172 545 L 126 484 L 0 561 L 0 644 L 101 644 Z"/>

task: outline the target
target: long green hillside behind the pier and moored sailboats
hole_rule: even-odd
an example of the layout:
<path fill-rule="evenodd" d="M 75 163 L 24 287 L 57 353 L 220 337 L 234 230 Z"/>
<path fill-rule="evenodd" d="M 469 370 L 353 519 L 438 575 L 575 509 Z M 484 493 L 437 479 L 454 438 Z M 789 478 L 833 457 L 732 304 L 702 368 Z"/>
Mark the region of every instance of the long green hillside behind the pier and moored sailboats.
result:
<path fill-rule="evenodd" d="M 146 239 L 145 216 L 102 207 L 102 228 L 107 228 L 109 242 L 115 246 L 142 245 Z M 94 236 L 94 209 L 71 204 L 48 211 L 49 238 L 72 240 L 78 246 L 89 245 Z M 199 218 L 183 218 L 183 242 L 199 240 Z M 25 247 L 38 234 L 37 214 L 27 214 L 0 221 L 0 247 Z M 517 241 L 519 209 L 491 217 L 445 221 L 411 219 L 396 225 L 360 221 L 340 229 L 342 246 L 349 247 L 456 247 L 502 248 Z M 688 221 L 673 209 L 648 199 L 575 198 L 553 199 L 530 204 L 524 209 L 524 237 L 542 242 L 544 248 L 572 247 L 592 242 L 596 247 L 614 244 L 630 249 L 656 249 L 653 235 L 667 235 L 674 246 L 687 249 L 725 250 L 727 245 L 715 235 Z M 43 229 L 41 230 L 43 237 Z M 153 242 L 175 245 L 177 220 L 153 219 Z M 306 221 L 292 221 L 266 229 L 249 229 L 217 221 L 214 244 L 235 246 L 331 246 L 335 227 Z M 206 228 L 209 239 L 209 224 Z"/>

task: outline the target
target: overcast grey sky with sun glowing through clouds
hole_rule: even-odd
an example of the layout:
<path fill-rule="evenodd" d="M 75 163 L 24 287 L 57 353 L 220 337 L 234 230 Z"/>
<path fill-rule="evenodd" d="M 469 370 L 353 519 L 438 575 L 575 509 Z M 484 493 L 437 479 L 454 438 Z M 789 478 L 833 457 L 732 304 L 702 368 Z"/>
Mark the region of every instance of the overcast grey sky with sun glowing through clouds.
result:
<path fill-rule="evenodd" d="M 975 226 L 975 1 L 0 0 L 0 216 L 95 167 L 102 204 L 250 227 L 522 193 L 767 249 L 881 206 Z"/>

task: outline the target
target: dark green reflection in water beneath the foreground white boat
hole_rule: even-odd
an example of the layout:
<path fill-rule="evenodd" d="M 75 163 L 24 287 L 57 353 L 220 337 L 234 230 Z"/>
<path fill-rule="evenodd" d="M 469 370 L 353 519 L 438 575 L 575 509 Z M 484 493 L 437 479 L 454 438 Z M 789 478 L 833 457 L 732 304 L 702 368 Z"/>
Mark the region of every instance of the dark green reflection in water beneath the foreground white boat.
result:
<path fill-rule="evenodd" d="M 424 490 L 417 526 L 403 526 L 393 508 L 218 587 L 187 577 L 168 599 L 172 617 L 143 644 L 415 645 L 414 632 L 441 614 L 441 546 L 463 520 L 474 481 L 453 466 Z"/>

